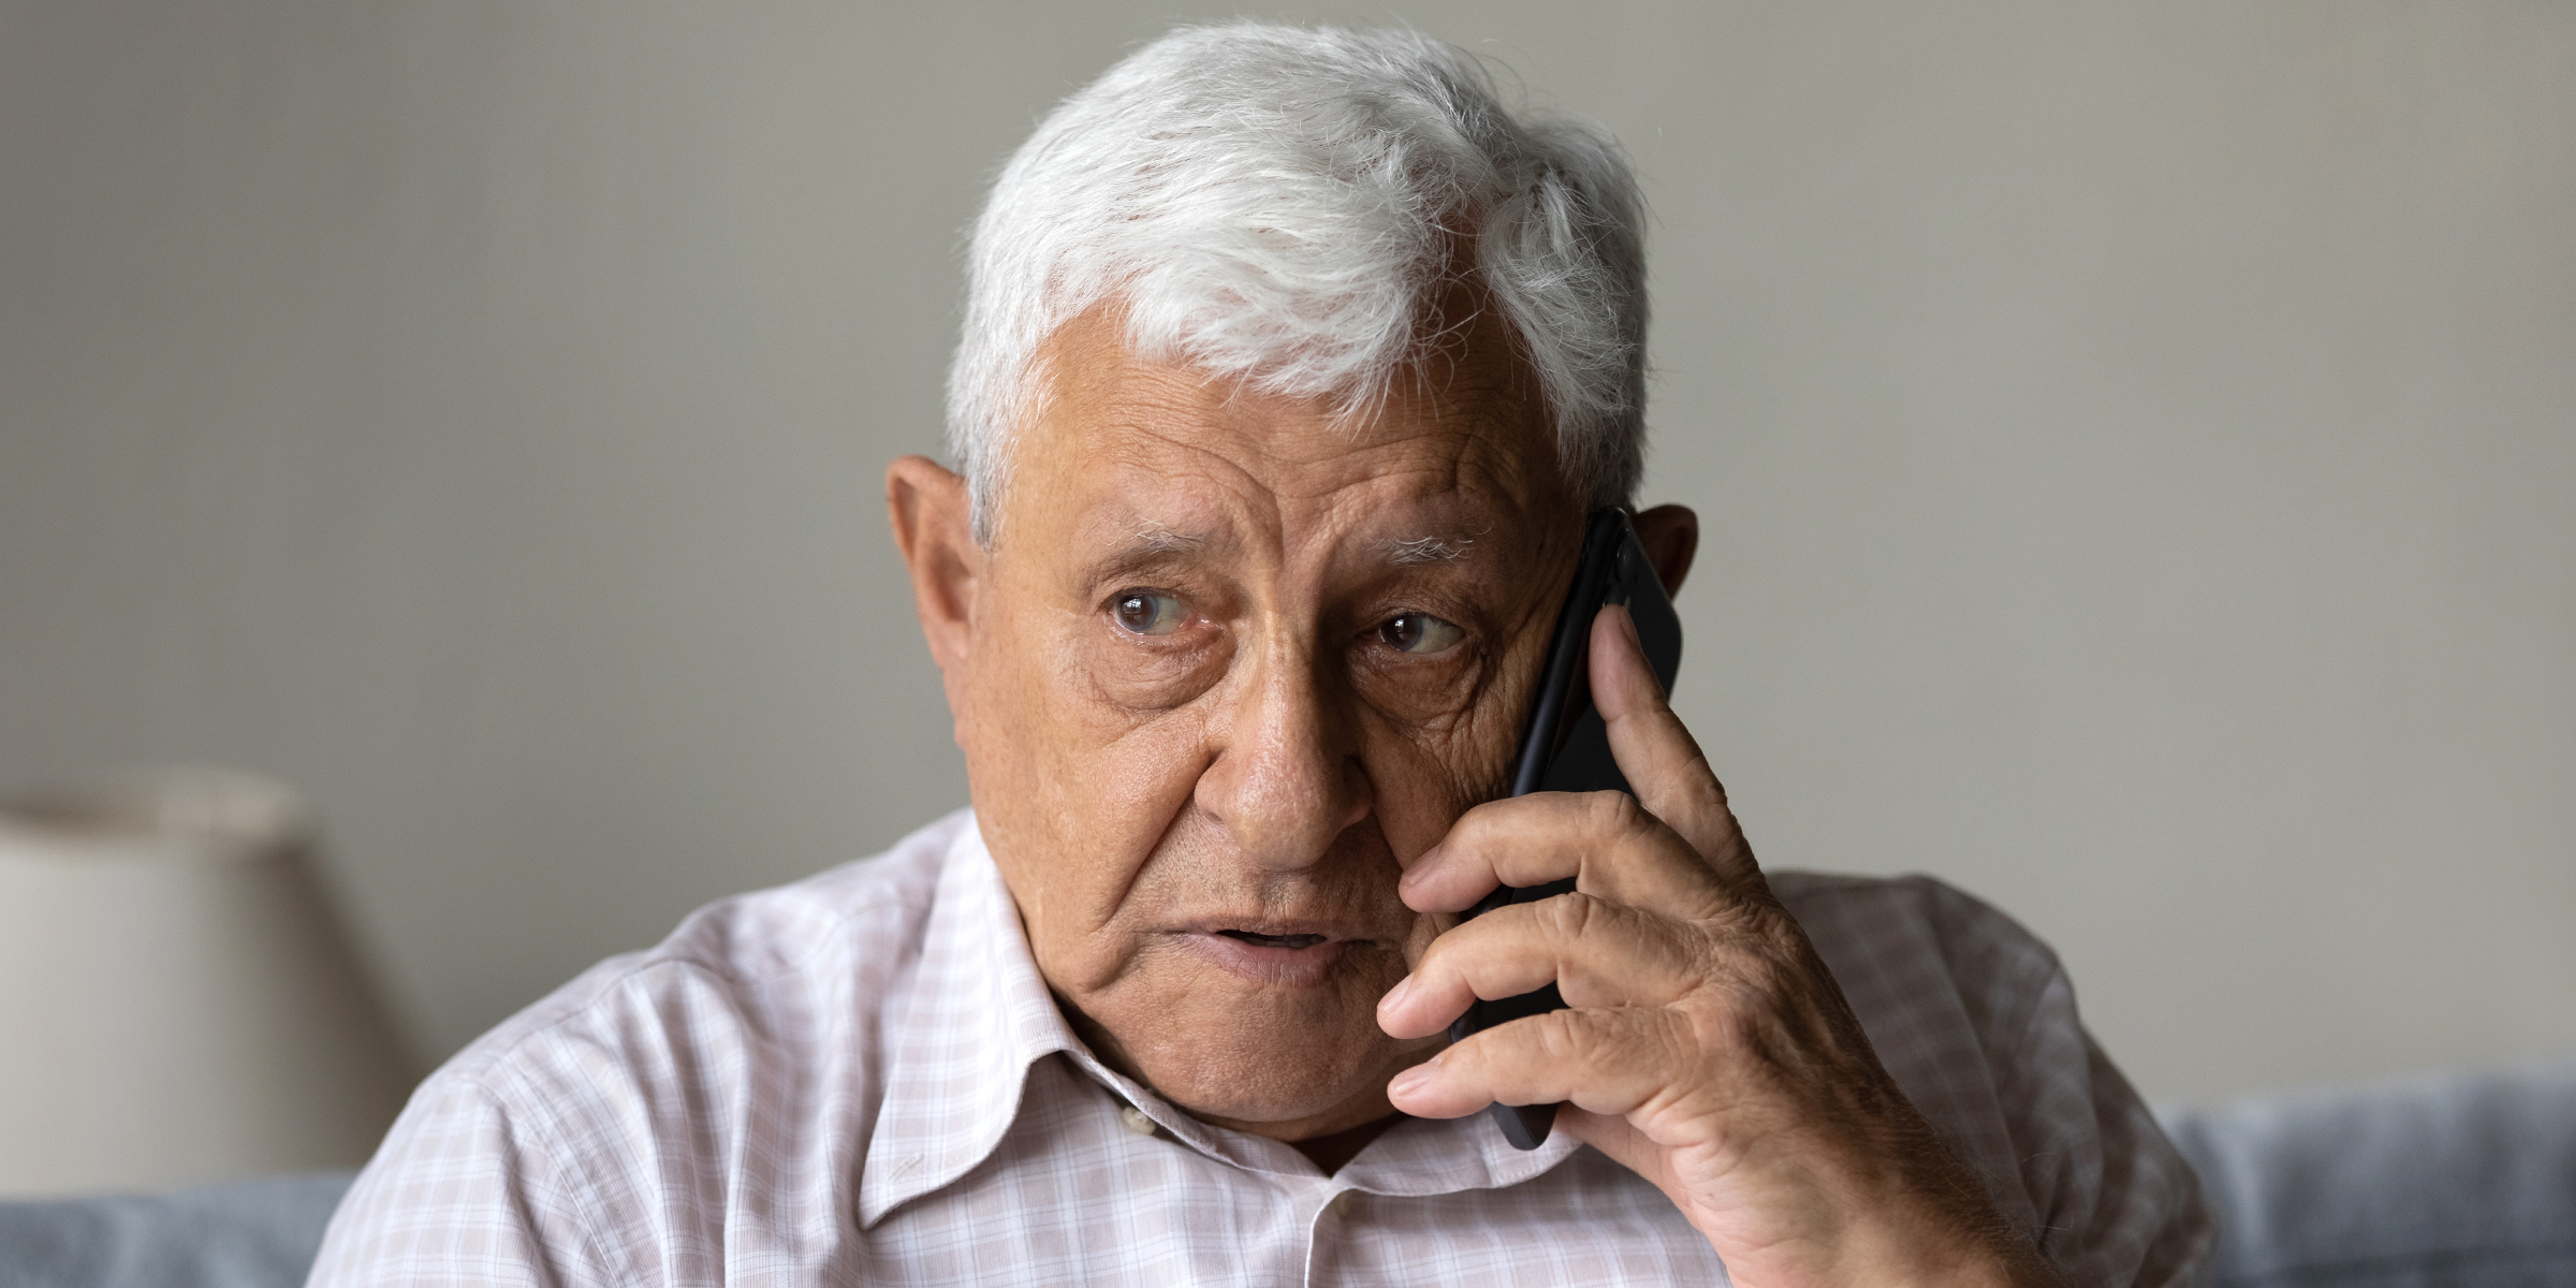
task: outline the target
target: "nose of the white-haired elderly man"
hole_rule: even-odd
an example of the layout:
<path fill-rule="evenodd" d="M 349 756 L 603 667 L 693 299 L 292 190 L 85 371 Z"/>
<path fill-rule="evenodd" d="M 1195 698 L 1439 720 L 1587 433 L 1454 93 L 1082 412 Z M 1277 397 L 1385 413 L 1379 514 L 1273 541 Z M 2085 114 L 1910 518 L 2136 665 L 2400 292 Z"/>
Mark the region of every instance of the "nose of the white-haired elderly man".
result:
<path fill-rule="evenodd" d="M 1211 729 L 1216 755 L 1198 775 L 1198 806 L 1260 868 L 1309 868 L 1373 806 L 1358 721 L 1314 649 L 1273 639 L 1236 665 L 1247 662 Z"/>

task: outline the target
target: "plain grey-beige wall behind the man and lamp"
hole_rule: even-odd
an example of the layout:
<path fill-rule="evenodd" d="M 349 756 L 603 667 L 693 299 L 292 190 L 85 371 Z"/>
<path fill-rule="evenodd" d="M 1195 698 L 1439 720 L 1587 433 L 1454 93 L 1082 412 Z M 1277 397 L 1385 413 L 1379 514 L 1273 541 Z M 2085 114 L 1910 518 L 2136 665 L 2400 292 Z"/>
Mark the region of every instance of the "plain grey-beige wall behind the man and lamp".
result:
<path fill-rule="evenodd" d="M 296 783 L 422 1061 L 963 804 L 958 229 L 1229 13 L 0 3 L 0 786 Z M 2154 1097 L 2576 1051 L 2576 8 L 1291 15 L 1633 152 L 1767 863 L 2002 904 Z"/>

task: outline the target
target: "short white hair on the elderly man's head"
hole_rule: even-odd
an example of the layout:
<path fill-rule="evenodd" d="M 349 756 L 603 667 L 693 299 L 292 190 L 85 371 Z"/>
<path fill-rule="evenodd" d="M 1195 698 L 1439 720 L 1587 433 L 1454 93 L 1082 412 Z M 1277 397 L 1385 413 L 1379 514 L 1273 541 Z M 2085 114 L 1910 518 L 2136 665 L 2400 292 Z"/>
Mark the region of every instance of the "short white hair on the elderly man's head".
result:
<path fill-rule="evenodd" d="M 1412 31 L 1185 26 L 1077 90 L 1002 167 L 966 255 L 948 440 L 976 541 L 1046 397 L 1041 345 L 1115 304 L 1128 350 L 1376 407 L 1473 278 L 1510 319 L 1589 505 L 1643 469 L 1641 204 L 1610 137 L 1515 116 Z"/>

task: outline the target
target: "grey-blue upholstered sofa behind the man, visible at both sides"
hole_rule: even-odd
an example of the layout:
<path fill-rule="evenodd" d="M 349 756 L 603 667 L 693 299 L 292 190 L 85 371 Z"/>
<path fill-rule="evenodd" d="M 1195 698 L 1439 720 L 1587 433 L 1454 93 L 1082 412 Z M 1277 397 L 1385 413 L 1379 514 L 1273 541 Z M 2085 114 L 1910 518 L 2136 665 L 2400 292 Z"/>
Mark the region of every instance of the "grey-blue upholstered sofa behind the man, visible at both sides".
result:
<path fill-rule="evenodd" d="M 2166 1113 L 2223 1288 L 2576 1288 L 2576 1064 Z M 348 1172 L 0 1203 L 0 1288 L 286 1288 Z"/>

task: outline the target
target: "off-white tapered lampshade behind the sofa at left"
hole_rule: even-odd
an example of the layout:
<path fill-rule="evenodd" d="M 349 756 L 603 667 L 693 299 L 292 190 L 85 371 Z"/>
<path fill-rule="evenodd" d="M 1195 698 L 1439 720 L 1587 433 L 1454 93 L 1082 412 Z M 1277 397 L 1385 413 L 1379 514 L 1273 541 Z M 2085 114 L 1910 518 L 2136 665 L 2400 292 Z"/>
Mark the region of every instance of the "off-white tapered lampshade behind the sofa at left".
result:
<path fill-rule="evenodd" d="M 309 858 L 237 773 L 0 806 L 0 1195 L 366 1159 L 410 1061 Z"/>

